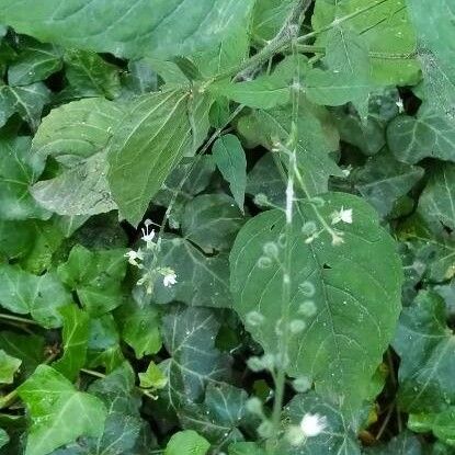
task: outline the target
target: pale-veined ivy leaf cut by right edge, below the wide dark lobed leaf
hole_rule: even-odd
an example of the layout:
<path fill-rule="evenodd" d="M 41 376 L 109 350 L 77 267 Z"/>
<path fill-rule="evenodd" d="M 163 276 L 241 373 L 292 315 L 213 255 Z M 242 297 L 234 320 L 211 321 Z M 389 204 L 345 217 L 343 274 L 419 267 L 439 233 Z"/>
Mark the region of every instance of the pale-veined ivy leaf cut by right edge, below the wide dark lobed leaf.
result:
<path fill-rule="evenodd" d="M 435 232 L 455 229 L 455 164 L 440 163 L 419 198 L 418 212 Z"/>

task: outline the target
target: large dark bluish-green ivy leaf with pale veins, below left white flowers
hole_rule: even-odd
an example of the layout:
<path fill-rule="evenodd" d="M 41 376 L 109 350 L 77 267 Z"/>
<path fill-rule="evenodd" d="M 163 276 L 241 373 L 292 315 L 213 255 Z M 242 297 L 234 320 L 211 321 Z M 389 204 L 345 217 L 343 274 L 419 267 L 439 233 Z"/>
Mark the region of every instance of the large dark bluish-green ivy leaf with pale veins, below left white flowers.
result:
<path fill-rule="evenodd" d="M 159 364 L 167 376 L 160 394 L 178 407 L 202 398 L 207 384 L 229 376 L 230 357 L 215 348 L 219 321 L 207 308 L 172 307 L 162 318 L 164 346 L 171 355 Z"/>

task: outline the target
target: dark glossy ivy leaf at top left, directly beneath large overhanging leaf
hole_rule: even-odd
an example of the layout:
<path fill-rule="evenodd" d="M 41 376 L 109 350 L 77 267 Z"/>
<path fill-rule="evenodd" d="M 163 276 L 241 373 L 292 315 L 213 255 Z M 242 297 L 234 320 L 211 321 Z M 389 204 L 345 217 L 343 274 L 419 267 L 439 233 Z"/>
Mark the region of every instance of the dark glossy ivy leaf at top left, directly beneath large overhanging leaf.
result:
<path fill-rule="evenodd" d="M 18 58 L 8 68 L 11 86 L 29 86 L 61 69 L 61 50 L 57 46 L 27 37 L 20 37 L 20 45 Z"/>

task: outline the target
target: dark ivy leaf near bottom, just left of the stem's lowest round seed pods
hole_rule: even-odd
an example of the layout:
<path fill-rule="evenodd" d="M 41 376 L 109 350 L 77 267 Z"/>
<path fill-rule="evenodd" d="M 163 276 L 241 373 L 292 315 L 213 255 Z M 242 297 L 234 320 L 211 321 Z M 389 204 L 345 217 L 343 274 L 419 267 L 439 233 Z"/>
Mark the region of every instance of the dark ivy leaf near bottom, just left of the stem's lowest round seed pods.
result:
<path fill-rule="evenodd" d="M 238 430 L 247 413 L 248 395 L 229 384 L 208 384 L 202 405 L 189 403 L 179 410 L 182 426 L 196 430 L 213 444 L 243 441 Z"/>

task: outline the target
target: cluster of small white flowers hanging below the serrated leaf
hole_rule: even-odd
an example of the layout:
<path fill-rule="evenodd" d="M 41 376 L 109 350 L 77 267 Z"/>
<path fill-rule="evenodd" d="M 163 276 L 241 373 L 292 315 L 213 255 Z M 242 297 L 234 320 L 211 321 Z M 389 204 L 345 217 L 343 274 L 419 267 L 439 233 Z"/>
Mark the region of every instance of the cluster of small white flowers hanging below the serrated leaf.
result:
<path fill-rule="evenodd" d="M 128 262 L 140 269 L 144 270 L 143 277 L 137 282 L 137 285 L 146 285 L 147 287 L 147 294 L 151 294 L 153 291 L 153 283 L 157 278 L 157 275 L 162 276 L 162 284 L 166 287 L 170 287 L 177 283 L 177 274 L 175 271 L 171 268 L 161 268 L 161 266 L 153 266 L 155 261 L 151 261 L 151 266 L 145 265 L 145 262 L 147 262 L 147 258 L 149 255 L 155 257 L 153 252 L 156 249 L 156 243 L 153 242 L 153 239 L 156 237 L 155 229 L 150 229 L 150 226 L 153 223 L 150 219 L 146 219 L 144 223 L 145 228 L 141 228 L 143 237 L 141 240 L 146 242 L 146 249 L 138 249 L 130 250 L 127 253 L 125 253 L 125 258 L 128 259 Z"/>

